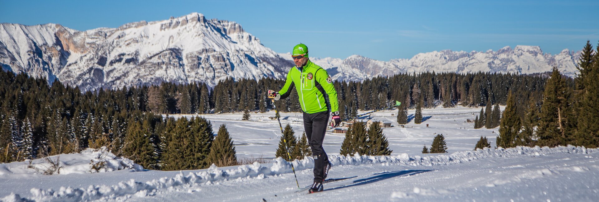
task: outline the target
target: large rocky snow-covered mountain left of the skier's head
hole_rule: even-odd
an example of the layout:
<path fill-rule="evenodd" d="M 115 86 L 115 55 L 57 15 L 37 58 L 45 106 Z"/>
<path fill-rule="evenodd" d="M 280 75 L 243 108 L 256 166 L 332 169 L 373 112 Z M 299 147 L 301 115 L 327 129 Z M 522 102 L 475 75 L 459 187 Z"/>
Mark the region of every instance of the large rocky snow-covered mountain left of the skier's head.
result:
<path fill-rule="evenodd" d="M 0 65 L 83 90 L 131 85 L 281 78 L 289 60 L 235 22 L 192 13 L 78 31 L 58 24 L 0 24 Z"/>

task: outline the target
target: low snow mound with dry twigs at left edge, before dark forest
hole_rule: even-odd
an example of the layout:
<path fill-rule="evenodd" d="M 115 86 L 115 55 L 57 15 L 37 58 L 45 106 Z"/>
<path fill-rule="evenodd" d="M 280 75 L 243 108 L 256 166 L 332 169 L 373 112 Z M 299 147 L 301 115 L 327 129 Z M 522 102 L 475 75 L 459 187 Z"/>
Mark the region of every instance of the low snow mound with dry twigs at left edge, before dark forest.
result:
<path fill-rule="evenodd" d="M 60 154 L 47 158 L 0 164 L 0 175 L 67 175 L 123 169 L 141 171 L 143 167 L 128 158 L 117 157 L 102 147 L 101 149 L 87 148 L 77 154 Z"/>

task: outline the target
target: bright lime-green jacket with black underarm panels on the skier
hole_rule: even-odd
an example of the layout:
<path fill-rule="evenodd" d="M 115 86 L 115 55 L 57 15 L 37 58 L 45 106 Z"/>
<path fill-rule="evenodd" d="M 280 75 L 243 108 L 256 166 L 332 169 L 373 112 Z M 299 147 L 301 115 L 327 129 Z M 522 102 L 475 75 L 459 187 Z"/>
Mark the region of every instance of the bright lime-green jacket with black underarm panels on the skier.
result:
<path fill-rule="evenodd" d="M 331 112 L 339 111 L 337 91 L 335 91 L 331 76 L 326 73 L 325 69 L 310 60 L 301 69 L 296 66 L 291 68 L 287 74 L 285 85 L 279 91 L 280 99 L 288 97 L 294 87 L 297 89 L 302 111 L 314 114 L 327 111 L 328 107 Z M 328 98 L 329 106 L 325 97 Z"/>

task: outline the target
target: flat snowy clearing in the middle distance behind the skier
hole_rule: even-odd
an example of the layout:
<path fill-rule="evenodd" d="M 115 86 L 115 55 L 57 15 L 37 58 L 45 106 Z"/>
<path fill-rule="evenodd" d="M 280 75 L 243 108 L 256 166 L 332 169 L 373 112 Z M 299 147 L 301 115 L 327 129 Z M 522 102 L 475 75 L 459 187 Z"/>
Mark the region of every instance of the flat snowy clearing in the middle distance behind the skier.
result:
<path fill-rule="evenodd" d="M 503 110 L 503 107 L 501 107 Z M 415 109 L 409 110 L 409 117 L 413 117 Z M 443 134 L 447 142 L 449 153 L 456 151 L 466 151 L 474 149 L 474 145 L 480 139 L 480 136 L 486 136 L 495 146 L 495 137 L 499 127 L 486 129 L 474 129 L 474 123 L 467 123 L 466 120 L 474 121 L 480 113 L 480 108 L 435 108 L 422 109 L 422 117 L 426 119 L 422 124 L 414 124 L 410 121 L 405 127 L 397 124 L 397 110 L 379 111 L 370 114 L 370 117 L 363 117 L 364 121 L 368 119 L 389 121 L 390 128 L 384 128 L 383 133 L 389 140 L 389 147 L 393 154 L 421 154 L 422 146 L 431 146 L 432 139 L 437 134 Z M 281 130 L 277 120 L 270 120 L 268 117 L 274 117 L 274 111 L 267 113 L 251 113 L 250 121 L 243 121 L 240 114 L 209 114 L 202 115 L 212 123 L 212 128 L 218 130 L 220 124 L 226 124 L 237 149 L 238 157 L 258 157 L 264 155 L 265 158 L 274 158 Z M 190 115 L 183 115 L 190 117 Z M 174 115 L 173 117 L 181 117 Z M 304 132 L 301 113 L 282 113 L 281 123 L 283 127 L 291 124 L 294 128 L 295 136 L 301 137 Z M 428 127 L 426 127 L 428 124 Z M 323 147 L 327 154 L 339 154 L 341 143 L 345 138 L 344 134 L 327 133 Z"/>

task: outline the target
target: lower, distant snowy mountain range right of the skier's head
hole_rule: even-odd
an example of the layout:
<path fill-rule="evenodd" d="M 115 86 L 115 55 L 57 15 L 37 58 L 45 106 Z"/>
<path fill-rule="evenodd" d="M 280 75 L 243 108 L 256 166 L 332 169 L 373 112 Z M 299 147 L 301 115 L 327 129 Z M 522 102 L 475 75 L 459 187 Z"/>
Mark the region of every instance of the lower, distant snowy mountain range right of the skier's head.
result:
<path fill-rule="evenodd" d="M 314 63 L 328 69 L 332 78 L 338 80 L 361 81 L 373 76 L 389 76 L 398 73 L 456 72 L 460 74 L 476 72 L 497 72 L 512 74 L 534 74 L 549 72 L 556 66 L 568 76 L 576 76 L 576 63 L 580 51 L 568 49 L 559 54 L 543 53 L 538 46 L 517 45 L 497 51 L 433 51 L 420 53 L 411 59 L 394 59 L 388 62 L 353 55 L 347 59 L 326 57 L 312 59 Z"/>

